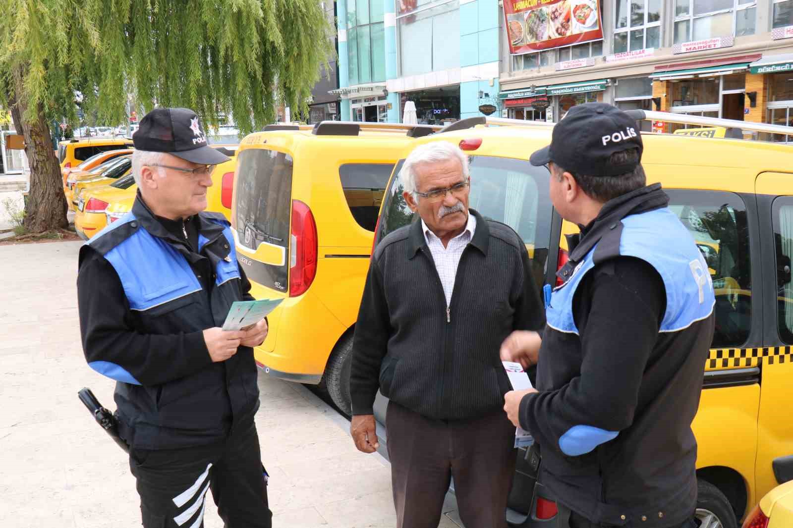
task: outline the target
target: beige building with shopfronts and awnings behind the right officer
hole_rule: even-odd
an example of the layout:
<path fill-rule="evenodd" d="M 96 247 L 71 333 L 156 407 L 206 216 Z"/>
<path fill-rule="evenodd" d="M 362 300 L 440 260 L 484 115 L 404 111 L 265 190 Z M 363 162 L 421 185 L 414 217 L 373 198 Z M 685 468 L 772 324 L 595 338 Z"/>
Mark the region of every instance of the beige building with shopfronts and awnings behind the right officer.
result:
<path fill-rule="evenodd" d="M 539 3 L 550 13 L 554 5 L 565 2 Z M 623 109 L 793 124 L 793 0 L 566 3 L 572 10 L 579 3 L 596 7 L 602 36 L 515 52 L 511 44 L 520 41 L 519 25 L 510 36 L 503 31 L 504 117 L 558 121 L 573 105 L 606 101 Z M 526 2 L 504 4 L 501 19 L 511 21 L 517 16 L 515 6 Z M 523 16 L 527 22 L 537 17 Z M 524 31 L 535 36 L 529 27 Z M 677 125 L 657 122 L 642 127 L 672 132 Z"/>

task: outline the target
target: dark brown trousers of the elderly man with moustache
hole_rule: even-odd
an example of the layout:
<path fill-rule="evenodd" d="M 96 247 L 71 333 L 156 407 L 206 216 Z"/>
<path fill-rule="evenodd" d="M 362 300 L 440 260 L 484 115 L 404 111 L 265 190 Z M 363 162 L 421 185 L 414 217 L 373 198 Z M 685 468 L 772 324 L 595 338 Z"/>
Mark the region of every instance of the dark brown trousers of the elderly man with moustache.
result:
<path fill-rule="evenodd" d="M 392 401 L 385 427 L 397 528 L 437 528 L 450 478 L 465 526 L 506 528 L 515 426 L 504 411 L 435 420 Z"/>

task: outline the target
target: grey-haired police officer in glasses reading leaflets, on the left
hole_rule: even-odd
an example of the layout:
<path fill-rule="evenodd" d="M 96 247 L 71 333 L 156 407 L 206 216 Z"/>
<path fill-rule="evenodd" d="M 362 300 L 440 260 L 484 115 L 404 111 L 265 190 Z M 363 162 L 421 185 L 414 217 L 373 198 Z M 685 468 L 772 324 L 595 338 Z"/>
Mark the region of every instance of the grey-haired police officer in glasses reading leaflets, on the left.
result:
<path fill-rule="evenodd" d="M 203 526 L 211 490 L 227 528 L 269 528 L 251 348 L 267 323 L 221 330 L 251 284 L 228 222 L 203 212 L 228 157 L 189 109 L 152 110 L 132 140 L 132 212 L 82 247 L 77 285 L 86 360 L 117 381 L 143 526 Z"/>

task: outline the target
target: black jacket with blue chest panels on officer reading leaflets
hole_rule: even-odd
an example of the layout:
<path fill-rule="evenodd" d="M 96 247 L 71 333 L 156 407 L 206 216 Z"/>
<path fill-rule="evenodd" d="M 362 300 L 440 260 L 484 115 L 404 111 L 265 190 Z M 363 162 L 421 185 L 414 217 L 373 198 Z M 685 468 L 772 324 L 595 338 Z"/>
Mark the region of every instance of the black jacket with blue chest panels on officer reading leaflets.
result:
<path fill-rule="evenodd" d="M 202 212 L 184 227 L 187 238 L 181 221 L 154 216 L 139 196 L 131 215 L 80 251 L 86 361 L 117 380 L 119 429 L 134 448 L 217 442 L 248 426 L 259 407 L 253 350 L 241 346 L 213 363 L 203 337 L 206 328 L 222 326 L 234 301 L 252 299 L 228 223 Z M 170 258 L 163 262 L 173 269 L 156 266 L 159 258 Z M 140 300 L 151 306 L 137 306 Z"/>

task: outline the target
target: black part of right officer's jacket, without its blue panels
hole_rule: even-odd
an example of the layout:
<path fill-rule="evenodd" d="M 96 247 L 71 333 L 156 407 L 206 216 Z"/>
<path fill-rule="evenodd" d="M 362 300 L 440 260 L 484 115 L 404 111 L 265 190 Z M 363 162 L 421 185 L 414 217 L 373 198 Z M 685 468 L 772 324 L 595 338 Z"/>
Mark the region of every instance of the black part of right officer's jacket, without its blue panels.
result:
<path fill-rule="evenodd" d="M 649 262 L 620 254 L 623 222 L 659 211 L 667 202 L 660 186 L 639 189 L 608 202 L 580 241 L 571 239 L 570 261 L 558 274 L 563 279 L 576 274 L 597 244 L 595 265 L 580 278 L 573 297 L 578 333 L 554 329 L 549 316 L 538 362 L 539 392 L 520 404 L 521 426 L 541 446 L 540 480 L 559 502 L 593 522 L 666 528 L 680 526 L 695 510 L 691 421 L 713 314 L 661 332 L 667 283 Z M 688 244 L 695 248 L 693 241 Z M 682 266 L 681 276 L 688 274 L 693 282 L 688 261 Z M 706 297 L 712 303 L 712 287 Z M 670 298 L 683 294 L 674 291 Z M 570 455 L 562 438 L 576 427 L 613 431 L 615 438 Z"/>

